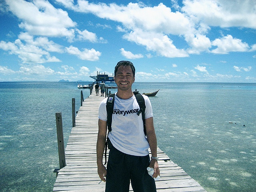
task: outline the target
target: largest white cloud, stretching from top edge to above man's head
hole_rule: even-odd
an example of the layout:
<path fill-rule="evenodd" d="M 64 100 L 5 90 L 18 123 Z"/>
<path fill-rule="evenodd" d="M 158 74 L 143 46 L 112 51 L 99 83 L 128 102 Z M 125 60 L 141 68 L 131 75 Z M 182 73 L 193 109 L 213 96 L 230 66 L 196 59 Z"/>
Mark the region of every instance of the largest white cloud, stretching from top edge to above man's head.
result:
<path fill-rule="evenodd" d="M 186 34 L 192 30 L 189 19 L 180 12 L 172 12 L 160 3 L 158 6 L 146 7 L 143 4 L 129 3 L 118 6 L 114 3 L 94 4 L 81 0 L 77 5 L 71 1 L 58 0 L 65 6 L 78 12 L 93 13 L 100 18 L 114 20 L 123 24 L 119 31 L 125 32 L 124 38 L 146 46 L 147 50 L 166 57 L 187 57 L 185 50 L 177 49 L 166 34 Z"/>

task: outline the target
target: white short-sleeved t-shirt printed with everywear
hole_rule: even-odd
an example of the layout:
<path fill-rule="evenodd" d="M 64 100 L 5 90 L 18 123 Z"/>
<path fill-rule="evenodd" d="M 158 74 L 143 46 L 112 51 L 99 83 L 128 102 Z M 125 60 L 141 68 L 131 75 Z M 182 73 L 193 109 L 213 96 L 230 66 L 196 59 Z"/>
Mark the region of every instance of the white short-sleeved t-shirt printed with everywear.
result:
<path fill-rule="evenodd" d="M 142 95 L 145 100 L 145 119 L 153 116 L 148 96 Z M 105 98 L 99 108 L 99 119 L 107 121 Z M 142 114 L 137 115 L 140 106 L 135 96 L 130 99 L 120 99 L 115 95 L 114 110 L 112 114 L 112 131 L 108 137 L 112 145 L 121 152 L 134 156 L 148 155 L 148 140 L 144 134 Z"/>

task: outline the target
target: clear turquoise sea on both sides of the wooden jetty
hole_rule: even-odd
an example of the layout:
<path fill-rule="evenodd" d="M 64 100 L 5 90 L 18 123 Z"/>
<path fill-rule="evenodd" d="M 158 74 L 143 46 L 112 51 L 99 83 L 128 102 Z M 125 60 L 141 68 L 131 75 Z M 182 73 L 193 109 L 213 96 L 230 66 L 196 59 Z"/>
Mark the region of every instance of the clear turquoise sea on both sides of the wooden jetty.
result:
<path fill-rule="evenodd" d="M 256 84 L 133 84 L 142 93 L 159 88 L 150 98 L 158 146 L 208 192 L 254 192 Z M 80 92 L 76 82 L 0 82 L 1 192 L 52 191 L 55 113 L 62 112 L 66 143 Z"/>

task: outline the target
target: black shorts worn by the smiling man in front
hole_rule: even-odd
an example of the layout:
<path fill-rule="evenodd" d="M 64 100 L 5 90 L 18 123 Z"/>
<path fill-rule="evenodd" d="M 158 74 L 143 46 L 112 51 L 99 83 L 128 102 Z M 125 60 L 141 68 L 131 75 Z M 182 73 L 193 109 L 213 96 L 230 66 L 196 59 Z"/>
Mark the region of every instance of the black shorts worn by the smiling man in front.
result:
<path fill-rule="evenodd" d="M 130 182 L 134 192 L 156 192 L 155 180 L 147 171 L 149 162 L 149 155 L 128 155 L 112 146 L 108 157 L 105 192 L 129 192 Z"/>

